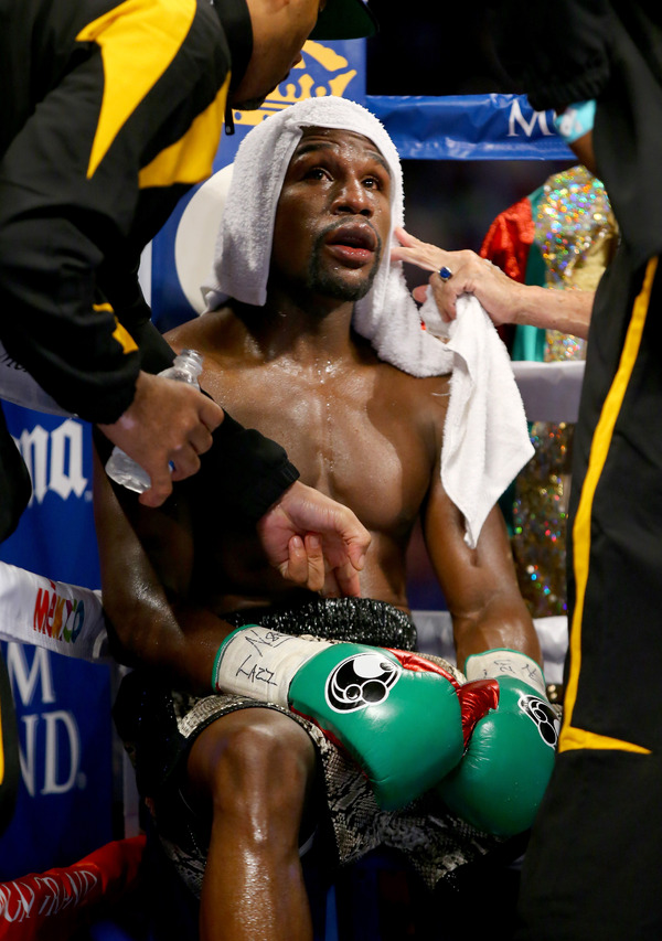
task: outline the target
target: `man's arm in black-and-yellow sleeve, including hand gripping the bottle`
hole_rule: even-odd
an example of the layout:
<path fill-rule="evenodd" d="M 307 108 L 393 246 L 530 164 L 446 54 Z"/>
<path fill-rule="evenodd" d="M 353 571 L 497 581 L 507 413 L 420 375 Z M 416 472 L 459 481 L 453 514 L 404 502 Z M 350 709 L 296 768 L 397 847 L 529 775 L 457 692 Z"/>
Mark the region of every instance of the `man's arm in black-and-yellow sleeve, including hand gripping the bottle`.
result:
<path fill-rule="evenodd" d="M 45 47 L 42 97 L 0 163 L 1 336 L 63 408 L 107 426 L 132 457 L 145 462 L 147 452 L 163 499 L 168 456 L 148 432 L 164 427 L 174 439 L 170 460 L 185 475 L 222 413 L 162 384 L 146 392 L 141 351 L 99 286 L 114 287 L 114 278 L 104 280 L 108 259 L 130 268 L 178 199 L 211 171 L 228 60 L 216 47 L 220 24 L 209 4 L 84 17 L 74 7 L 49 24 L 49 36 L 36 35 Z M 62 60 L 52 75 L 51 43 Z M 191 68 L 194 51 L 209 68 Z M 194 121 L 209 132 L 191 135 Z M 164 161 L 173 149 L 179 160 Z M 175 414 L 181 424 L 163 420 Z"/>

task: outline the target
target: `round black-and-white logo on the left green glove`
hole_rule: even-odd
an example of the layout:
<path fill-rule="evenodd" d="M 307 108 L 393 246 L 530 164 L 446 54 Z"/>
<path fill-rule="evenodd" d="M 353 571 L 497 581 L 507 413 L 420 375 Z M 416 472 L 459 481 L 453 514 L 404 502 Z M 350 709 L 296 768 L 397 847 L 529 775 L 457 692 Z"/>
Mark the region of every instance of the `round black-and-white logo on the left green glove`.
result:
<path fill-rule="evenodd" d="M 381 653 L 356 653 L 339 663 L 327 680 L 327 702 L 337 713 L 383 703 L 402 667 Z"/>

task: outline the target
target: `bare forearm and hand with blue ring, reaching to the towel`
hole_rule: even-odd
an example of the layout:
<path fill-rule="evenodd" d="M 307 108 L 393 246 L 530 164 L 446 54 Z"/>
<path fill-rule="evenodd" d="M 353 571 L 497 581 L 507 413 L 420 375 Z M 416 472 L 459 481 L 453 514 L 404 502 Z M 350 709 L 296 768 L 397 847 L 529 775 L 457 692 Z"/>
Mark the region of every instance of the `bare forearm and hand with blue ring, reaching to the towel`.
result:
<path fill-rule="evenodd" d="M 455 320 L 457 299 L 462 293 L 472 293 L 496 325 L 522 323 L 572 333 L 584 340 L 588 336 L 594 291 L 552 291 L 521 285 L 474 252 L 445 252 L 404 229 L 398 229 L 397 236 L 401 246 L 393 249 L 394 259 L 435 272 L 429 284 L 444 320 Z M 447 281 L 437 274 L 442 266 L 452 271 Z M 415 289 L 416 300 L 425 300 L 426 287 Z"/>

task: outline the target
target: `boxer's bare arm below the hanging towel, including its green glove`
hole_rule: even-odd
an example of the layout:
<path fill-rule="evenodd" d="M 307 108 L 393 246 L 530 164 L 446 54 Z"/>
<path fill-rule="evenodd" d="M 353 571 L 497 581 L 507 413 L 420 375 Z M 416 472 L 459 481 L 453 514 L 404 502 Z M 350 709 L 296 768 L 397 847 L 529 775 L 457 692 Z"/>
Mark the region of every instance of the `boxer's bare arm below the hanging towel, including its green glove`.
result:
<path fill-rule="evenodd" d="M 436 471 L 424 532 L 450 609 L 466 731 L 461 761 L 437 785 L 446 805 L 479 830 L 528 830 L 554 767 L 558 716 L 549 705 L 542 653 L 517 589 L 501 513 L 494 507 L 478 546 L 463 541 L 461 514 Z M 488 708 L 473 699 L 492 695 Z"/>

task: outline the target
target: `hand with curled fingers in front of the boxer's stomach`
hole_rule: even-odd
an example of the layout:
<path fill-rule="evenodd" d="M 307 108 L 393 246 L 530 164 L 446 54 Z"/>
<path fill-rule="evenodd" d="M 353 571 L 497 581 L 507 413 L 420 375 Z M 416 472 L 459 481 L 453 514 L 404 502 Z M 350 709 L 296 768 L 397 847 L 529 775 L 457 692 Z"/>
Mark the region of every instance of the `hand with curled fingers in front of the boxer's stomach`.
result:
<path fill-rule="evenodd" d="M 346 506 L 296 481 L 257 530 L 284 578 L 327 597 L 360 596 L 359 573 L 371 536 Z"/>

